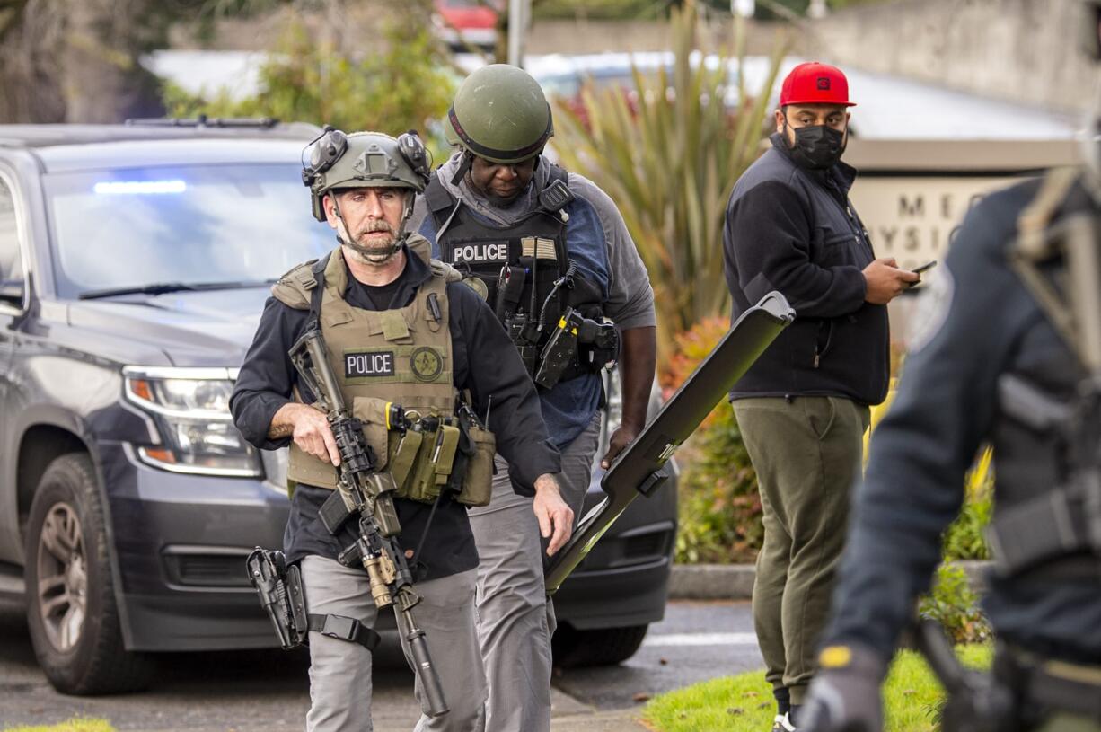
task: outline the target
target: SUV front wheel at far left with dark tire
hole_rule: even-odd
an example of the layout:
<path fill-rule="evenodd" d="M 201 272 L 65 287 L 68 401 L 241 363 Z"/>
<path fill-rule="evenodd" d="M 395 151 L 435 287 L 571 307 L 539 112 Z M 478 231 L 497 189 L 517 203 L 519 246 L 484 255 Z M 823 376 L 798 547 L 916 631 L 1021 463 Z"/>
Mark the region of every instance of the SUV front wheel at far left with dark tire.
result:
<path fill-rule="evenodd" d="M 54 688 L 91 695 L 148 684 L 148 657 L 122 645 L 107 524 L 87 455 L 63 455 L 42 476 L 23 571 L 34 655 Z"/>

